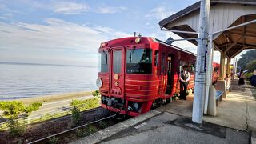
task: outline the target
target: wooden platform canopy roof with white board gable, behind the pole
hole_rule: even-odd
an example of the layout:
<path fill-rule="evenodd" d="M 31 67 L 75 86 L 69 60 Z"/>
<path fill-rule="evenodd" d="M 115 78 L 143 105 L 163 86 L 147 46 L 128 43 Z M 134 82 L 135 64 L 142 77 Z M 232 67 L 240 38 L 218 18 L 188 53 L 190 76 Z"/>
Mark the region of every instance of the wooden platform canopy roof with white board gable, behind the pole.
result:
<path fill-rule="evenodd" d="M 200 2 L 159 22 L 162 30 L 198 32 Z M 211 0 L 209 32 L 237 26 L 256 19 L 256 0 Z M 182 38 L 198 38 L 197 34 L 177 33 Z M 242 50 L 256 49 L 256 22 L 214 34 L 214 48 L 234 58 Z M 190 42 L 197 45 L 196 40 Z"/>

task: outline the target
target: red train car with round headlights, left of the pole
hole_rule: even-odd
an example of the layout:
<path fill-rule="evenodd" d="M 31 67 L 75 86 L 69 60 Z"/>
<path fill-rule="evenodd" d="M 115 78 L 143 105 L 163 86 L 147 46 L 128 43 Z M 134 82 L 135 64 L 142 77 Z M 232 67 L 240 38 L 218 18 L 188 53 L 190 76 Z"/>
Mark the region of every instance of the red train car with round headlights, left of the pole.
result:
<path fill-rule="evenodd" d="M 96 81 L 102 107 L 136 116 L 179 94 L 179 73 L 189 66 L 194 88 L 196 55 L 155 38 L 130 37 L 103 42 Z"/>

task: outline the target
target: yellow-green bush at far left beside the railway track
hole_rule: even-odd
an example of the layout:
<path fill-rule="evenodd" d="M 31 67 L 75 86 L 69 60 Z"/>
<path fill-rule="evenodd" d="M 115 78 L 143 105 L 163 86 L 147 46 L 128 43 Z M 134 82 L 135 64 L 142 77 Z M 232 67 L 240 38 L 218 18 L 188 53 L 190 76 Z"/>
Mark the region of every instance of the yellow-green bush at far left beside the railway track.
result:
<path fill-rule="evenodd" d="M 2 116 L 7 118 L 7 126 L 9 127 L 10 135 L 15 136 L 21 134 L 25 128 L 18 122 L 18 118 L 22 114 L 30 115 L 32 111 L 36 111 L 42 106 L 41 102 L 34 102 L 29 106 L 25 106 L 23 102 L 18 101 L 2 101 L 0 102 L 0 110 L 3 111 Z"/>

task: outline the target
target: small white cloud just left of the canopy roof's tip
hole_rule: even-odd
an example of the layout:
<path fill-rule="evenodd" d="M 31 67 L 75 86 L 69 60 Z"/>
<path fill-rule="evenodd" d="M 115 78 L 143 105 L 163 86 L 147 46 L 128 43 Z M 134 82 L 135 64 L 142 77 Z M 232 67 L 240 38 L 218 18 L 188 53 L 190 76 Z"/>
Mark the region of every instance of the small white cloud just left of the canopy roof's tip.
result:
<path fill-rule="evenodd" d="M 163 18 L 169 17 L 171 14 L 174 14 L 174 12 L 171 10 L 167 10 L 166 6 L 158 6 L 150 10 L 150 13 L 146 14 L 146 18 L 162 20 Z"/>

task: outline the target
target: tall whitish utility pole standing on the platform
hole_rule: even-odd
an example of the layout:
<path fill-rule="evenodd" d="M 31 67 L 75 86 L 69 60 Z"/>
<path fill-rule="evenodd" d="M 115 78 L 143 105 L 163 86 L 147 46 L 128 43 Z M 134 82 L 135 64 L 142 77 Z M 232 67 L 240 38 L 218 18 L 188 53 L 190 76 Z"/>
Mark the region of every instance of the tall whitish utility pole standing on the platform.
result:
<path fill-rule="evenodd" d="M 196 123 L 202 123 L 203 105 L 206 95 L 206 50 L 208 46 L 209 14 L 210 0 L 201 0 L 192 114 L 192 121 Z"/>

